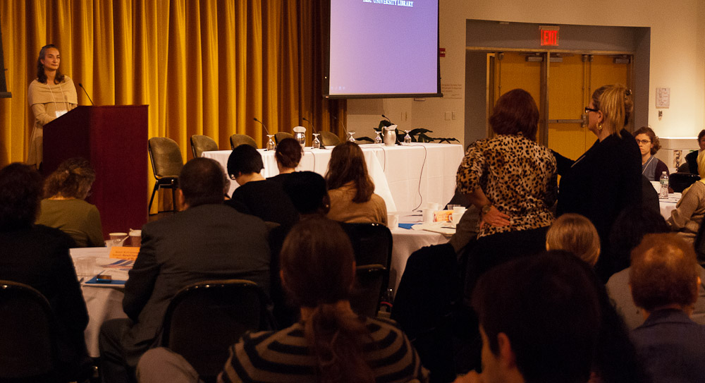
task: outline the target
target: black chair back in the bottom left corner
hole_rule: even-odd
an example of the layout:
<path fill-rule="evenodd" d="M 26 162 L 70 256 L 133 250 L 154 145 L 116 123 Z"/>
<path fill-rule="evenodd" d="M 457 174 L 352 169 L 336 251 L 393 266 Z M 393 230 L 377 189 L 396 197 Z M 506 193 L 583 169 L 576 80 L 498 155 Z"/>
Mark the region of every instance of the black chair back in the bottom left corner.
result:
<path fill-rule="evenodd" d="M 54 315 L 47 298 L 0 280 L 0 380 L 55 378 Z"/>

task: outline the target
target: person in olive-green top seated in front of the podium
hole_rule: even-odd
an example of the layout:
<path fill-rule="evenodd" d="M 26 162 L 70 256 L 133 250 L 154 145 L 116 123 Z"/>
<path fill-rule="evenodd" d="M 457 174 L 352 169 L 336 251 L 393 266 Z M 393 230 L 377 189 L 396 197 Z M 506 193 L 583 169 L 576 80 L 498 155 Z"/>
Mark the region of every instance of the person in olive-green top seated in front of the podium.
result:
<path fill-rule="evenodd" d="M 95 205 L 85 202 L 95 181 L 95 171 L 87 159 L 67 159 L 44 183 L 44 200 L 37 224 L 67 233 L 76 246 L 105 245 L 100 213 Z"/>

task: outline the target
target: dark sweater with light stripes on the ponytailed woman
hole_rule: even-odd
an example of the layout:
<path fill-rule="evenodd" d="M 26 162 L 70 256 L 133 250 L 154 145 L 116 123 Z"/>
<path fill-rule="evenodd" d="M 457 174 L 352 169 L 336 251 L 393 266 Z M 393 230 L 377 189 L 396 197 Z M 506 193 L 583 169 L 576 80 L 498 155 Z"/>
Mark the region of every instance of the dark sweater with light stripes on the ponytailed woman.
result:
<path fill-rule="evenodd" d="M 396 322 L 365 318 L 365 324 L 372 337 L 362 350 L 377 383 L 427 382 L 427 370 Z M 219 382 L 317 382 L 317 360 L 301 322 L 278 332 L 245 334 L 230 353 Z"/>

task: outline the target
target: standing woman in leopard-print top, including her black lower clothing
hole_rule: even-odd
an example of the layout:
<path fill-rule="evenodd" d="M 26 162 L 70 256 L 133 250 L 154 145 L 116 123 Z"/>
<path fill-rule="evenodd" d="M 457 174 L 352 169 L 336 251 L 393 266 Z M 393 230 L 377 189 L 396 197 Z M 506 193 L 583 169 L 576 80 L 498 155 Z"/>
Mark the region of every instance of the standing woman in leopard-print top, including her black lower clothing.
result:
<path fill-rule="evenodd" d="M 556 159 L 535 142 L 539 109 L 529 92 L 501 95 L 489 124 L 496 135 L 467 148 L 455 186 L 480 211 L 477 242 L 465 250 L 466 303 L 484 272 L 544 250 L 556 201 Z"/>

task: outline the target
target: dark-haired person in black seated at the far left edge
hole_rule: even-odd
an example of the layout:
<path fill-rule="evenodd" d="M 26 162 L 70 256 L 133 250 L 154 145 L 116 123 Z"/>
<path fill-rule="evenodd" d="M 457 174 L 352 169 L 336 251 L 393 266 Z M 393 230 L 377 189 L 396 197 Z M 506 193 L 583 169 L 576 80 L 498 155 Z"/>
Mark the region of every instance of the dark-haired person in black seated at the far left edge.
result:
<path fill-rule="evenodd" d="M 59 229 L 33 224 L 41 197 L 42 176 L 34 166 L 0 170 L 0 279 L 32 286 L 49 300 L 59 373 L 63 382 L 82 382 L 92 370 L 83 337 L 88 312 L 68 253 L 75 244 Z"/>

